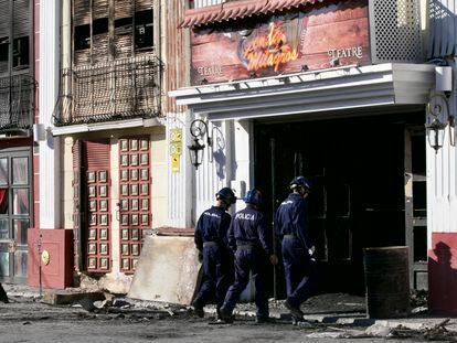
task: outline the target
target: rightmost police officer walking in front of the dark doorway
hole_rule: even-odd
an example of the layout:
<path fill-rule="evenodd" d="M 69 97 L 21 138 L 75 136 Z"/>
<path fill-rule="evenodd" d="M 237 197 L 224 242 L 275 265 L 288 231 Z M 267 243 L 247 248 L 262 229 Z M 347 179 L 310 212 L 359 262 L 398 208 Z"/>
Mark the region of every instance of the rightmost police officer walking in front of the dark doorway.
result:
<path fill-rule="evenodd" d="M 308 236 L 307 196 L 310 190 L 304 176 L 296 176 L 289 184 L 291 193 L 276 212 L 275 228 L 281 240 L 284 271 L 286 277 L 286 308 L 294 323 L 301 321 L 300 304 L 313 292 L 316 262 L 311 257 L 312 244 Z"/>

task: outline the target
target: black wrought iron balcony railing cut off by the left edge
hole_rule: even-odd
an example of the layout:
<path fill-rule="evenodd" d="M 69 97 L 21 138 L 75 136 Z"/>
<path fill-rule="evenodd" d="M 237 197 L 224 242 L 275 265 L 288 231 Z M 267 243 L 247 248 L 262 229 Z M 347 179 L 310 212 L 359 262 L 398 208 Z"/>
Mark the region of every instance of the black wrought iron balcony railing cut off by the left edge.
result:
<path fill-rule="evenodd" d="M 30 75 L 0 77 L 0 132 L 32 127 L 34 89 Z"/>

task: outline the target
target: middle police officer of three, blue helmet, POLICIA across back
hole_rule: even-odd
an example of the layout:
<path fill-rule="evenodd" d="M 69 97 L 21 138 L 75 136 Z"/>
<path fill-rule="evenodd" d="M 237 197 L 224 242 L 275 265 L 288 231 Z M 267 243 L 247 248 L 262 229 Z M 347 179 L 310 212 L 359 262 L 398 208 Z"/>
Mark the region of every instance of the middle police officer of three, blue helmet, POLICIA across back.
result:
<path fill-rule="evenodd" d="M 233 309 L 249 281 L 251 271 L 255 283 L 256 322 L 262 323 L 268 321 L 269 317 L 266 290 L 268 257 L 273 265 L 278 259 L 273 251 L 272 233 L 258 211 L 262 204 L 261 192 L 248 191 L 244 201 L 246 208 L 234 215 L 228 229 L 228 245 L 235 253 L 235 283 L 228 288 L 221 317 L 225 322 L 233 321 Z"/>

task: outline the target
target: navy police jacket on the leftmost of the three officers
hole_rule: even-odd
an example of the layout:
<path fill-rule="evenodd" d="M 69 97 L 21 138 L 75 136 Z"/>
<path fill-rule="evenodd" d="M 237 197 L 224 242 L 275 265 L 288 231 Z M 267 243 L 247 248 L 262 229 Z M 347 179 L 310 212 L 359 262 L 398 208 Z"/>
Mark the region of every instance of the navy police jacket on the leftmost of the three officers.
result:
<path fill-rule="evenodd" d="M 231 215 L 224 207 L 212 206 L 204 211 L 195 227 L 194 242 L 199 250 L 203 249 L 204 242 L 215 242 L 227 248 L 227 231 Z"/>

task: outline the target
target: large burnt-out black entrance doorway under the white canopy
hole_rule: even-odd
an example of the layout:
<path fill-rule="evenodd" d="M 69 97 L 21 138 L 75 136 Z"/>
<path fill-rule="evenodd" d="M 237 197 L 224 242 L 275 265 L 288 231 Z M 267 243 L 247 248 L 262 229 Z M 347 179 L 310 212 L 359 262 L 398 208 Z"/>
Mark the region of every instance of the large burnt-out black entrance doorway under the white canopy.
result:
<path fill-rule="evenodd" d="M 255 124 L 255 181 L 272 222 L 293 176 L 311 182 L 321 291 L 363 293 L 363 248 L 406 245 L 405 132 L 415 125 L 422 112 Z"/>

